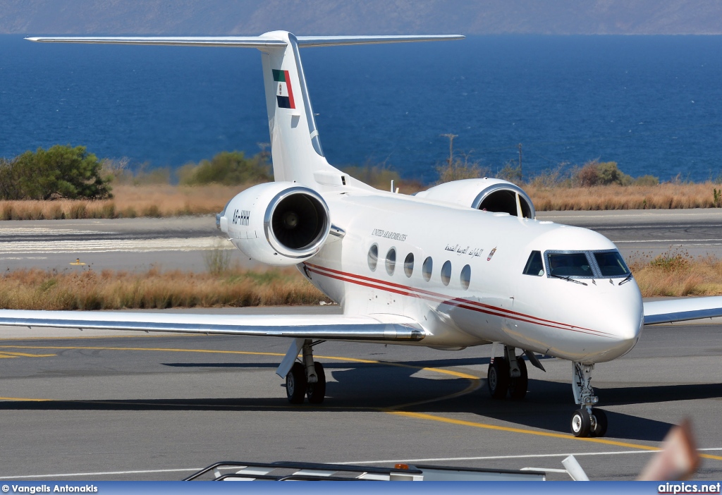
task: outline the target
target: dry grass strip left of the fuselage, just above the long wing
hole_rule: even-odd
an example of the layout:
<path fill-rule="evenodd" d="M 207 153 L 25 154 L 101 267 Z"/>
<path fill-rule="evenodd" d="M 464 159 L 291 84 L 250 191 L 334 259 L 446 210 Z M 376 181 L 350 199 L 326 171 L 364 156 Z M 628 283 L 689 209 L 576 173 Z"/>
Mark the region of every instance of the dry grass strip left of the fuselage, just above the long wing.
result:
<path fill-rule="evenodd" d="M 0 284 L 0 308 L 17 310 L 318 305 L 326 300 L 295 268 L 219 275 L 32 269 L 8 271 Z"/>

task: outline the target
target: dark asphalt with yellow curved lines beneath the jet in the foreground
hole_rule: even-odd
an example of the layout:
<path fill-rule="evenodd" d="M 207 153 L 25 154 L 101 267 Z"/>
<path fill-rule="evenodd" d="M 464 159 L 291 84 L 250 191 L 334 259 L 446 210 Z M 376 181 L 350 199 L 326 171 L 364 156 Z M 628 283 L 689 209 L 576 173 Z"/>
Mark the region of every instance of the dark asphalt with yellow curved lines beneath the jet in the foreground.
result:
<path fill-rule="evenodd" d="M 339 308 L 206 310 L 227 311 Z M 565 480 L 569 454 L 593 480 L 631 480 L 684 418 L 705 456 L 695 479 L 722 478 L 722 325 L 648 327 L 630 354 L 597 365 L 601 439 L 569 432 L 569 362 L 530 367 L 525 400 L 492 400 L 490 346 L 323 343 L 326 402 L 291 406 L 274 374 L 282 338 L 28 331 L 0 340 L 0 480 L 173 480 L 219 460 L 535 468 Z"/>

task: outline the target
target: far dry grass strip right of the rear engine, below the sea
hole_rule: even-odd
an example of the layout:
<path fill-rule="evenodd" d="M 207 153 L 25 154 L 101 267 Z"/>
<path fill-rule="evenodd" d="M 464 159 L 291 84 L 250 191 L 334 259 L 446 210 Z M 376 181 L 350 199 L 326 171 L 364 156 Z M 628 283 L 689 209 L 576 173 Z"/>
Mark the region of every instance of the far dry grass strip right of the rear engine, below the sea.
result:
<path fill-rule="evenodd" d="M 720 206 L 714 193 L 718 188 L 720 185 L 711 182 L 591 188 L 524 186 L 536 211 L 714 208 Z"/>

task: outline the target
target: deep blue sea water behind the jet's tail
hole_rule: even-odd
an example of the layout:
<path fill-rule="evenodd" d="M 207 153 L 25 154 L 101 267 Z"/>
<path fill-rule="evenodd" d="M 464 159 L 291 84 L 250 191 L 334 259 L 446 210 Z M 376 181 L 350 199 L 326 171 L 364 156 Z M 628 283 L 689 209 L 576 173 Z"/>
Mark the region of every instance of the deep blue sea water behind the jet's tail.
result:
<path fill-rule="evenodd" d="M 326 157 L 427 183 L 458 152 L 525 177 L 614 161 L 722 173 L 722 37 L 482 36 L 301 52 Z M 0 36 L 0 157 L 82 144 L 178 167 L 269 141 L 258 51 L 30 43 Z"/>

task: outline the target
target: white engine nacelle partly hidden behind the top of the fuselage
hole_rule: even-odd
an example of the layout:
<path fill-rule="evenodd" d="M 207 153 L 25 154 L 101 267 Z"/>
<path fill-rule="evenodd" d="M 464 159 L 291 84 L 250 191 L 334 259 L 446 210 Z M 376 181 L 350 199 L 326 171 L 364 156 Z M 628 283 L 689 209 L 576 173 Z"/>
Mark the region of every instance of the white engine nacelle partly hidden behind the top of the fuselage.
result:
<path fill-rule="evenodd" d="M 416 196 L 524 218 L 533 219 L 536 215 L 529 195 L 518 185 L 501 179 L 452 180 L 435 185 Z"/>

